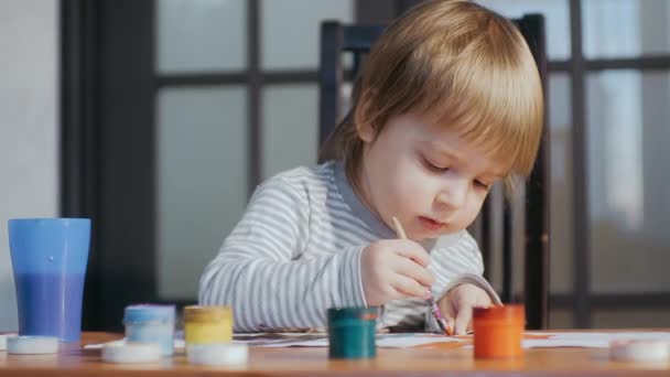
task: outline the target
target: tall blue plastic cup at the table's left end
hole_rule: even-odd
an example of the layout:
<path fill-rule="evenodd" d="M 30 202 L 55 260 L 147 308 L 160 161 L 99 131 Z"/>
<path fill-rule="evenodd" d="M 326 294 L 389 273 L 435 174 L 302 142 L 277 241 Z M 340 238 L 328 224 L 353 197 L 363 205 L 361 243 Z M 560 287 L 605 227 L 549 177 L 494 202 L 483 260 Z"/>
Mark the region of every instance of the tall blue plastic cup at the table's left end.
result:
<path fill-rule="evenodd" d="M 79 341 L 90 219 L 10 219 L 8 229 L 19 334 Z"/>

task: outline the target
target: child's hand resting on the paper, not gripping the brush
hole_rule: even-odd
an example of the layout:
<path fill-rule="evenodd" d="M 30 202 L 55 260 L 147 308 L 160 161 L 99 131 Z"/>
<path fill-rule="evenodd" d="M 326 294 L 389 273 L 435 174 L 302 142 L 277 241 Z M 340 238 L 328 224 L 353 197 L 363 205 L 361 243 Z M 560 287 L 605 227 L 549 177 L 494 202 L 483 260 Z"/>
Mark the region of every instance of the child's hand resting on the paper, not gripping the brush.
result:
<path fill-rule="evenodd" d="M 465 283 L 454 287 L 437 305 L 447 326 L 454 330 L 454 335 L 465 335 L 472 330 L 473 308 L 488 308 L 493 302 L 485 290 Z"/>

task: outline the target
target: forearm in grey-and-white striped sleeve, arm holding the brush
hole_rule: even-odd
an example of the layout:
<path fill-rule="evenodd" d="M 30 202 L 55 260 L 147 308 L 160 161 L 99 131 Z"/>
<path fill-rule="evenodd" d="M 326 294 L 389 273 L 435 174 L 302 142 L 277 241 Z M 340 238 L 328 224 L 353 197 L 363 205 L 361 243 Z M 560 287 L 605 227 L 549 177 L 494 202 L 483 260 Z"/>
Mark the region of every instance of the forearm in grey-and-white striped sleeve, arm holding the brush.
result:
<path fill-rule="evenodd" d="M 203 274 L 199 301 L 231 305 L 239 332 L 325 327 L 328 308 L 365 305 L 361 249 L 282 262 L 226 250 Z"/>

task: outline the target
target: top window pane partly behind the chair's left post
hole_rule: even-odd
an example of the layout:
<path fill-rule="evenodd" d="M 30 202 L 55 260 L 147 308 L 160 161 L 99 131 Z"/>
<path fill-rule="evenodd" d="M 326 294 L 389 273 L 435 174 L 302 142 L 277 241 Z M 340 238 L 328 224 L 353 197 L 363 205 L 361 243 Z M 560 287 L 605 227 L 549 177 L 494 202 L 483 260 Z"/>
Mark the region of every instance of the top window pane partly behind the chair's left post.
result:
<path fill-rule="evenodd" d="M 262 68 L 315 69 L 321 21 L 353 19 L 352 0 L 262 1 Z"/>

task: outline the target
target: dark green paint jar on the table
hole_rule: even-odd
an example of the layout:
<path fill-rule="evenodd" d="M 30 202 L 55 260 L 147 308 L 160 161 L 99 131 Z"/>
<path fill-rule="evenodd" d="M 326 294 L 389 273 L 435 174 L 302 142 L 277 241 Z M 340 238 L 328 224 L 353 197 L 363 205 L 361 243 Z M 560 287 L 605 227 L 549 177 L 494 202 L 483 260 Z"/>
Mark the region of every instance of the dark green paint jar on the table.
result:
<path fill-rule="evenodd" d="M 328 356 L 372 358 L 378 308 L 328 309 Z"/>

